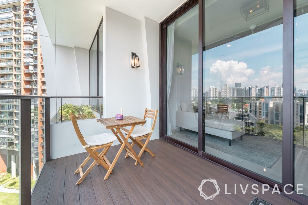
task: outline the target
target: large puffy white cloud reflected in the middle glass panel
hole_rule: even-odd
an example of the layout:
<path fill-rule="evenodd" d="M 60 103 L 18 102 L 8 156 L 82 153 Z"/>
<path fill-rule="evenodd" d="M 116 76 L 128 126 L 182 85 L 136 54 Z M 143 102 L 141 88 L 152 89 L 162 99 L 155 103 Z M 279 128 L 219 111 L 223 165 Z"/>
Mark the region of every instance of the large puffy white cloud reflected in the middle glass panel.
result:
<path fill-rule="evenodd" d="M 248 83 L 248 78 L 254 74 L 253 69 L 248 69 L 247 64 L 238 61 L 217 60 L 210 67 L 210 74 L 218 75 L 220 82 L 225 82 L 230 86 L 234 83 Z"/>

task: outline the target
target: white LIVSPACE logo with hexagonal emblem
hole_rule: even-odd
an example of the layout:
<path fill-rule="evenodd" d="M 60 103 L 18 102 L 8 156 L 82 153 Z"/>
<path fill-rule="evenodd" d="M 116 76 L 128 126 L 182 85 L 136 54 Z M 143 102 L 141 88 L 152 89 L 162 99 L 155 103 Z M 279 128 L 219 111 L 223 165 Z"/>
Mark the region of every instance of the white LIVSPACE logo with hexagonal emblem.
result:
<path fill-rule="evenodd" d="M 209 182 L 207 183 L 209 187 L 213 187 L 213 191 L 215 191 L 214 194 L 208 196 L 206 195 L 203 191 L 202 191 L 202 187 L 203 185 L 206 183 L 206 182 Z M 294 187 L 294 191 L 296 191 L 297 194 L 303 194 L 301 191 L 303 190 L 301 187 L 303 186 L 303 184 L 296 184 L 296 187 Z M 242 184 L 239 184 L 239 187 L 237 184 L 234 184 L 234 192 L 229 192 L 228 191 L 228 187 L 227 187 L 227 184 L 225 184 L 225 193 L 226 195 L 230 195 L 230 194 L 237 194 L 237 189 L 240 188 L 242 194 L 246 194 L 248 192 L 251 192 L 252 194 L 254 195 L 257 195 L 259 194 L 259 188 L 260 186 L 258 184 L 252 184 L 251 186 L 249 186 L 249 184 L 245 184 L 245 185 L 242 185 Z M 291 189 L 293 188 L 293 185 L 292 184 L 286 184 L 284 187 L 283 187 L 283 193 L 284 194 L 287 194 L 287 195 L 290 195 L 293 193 L 293 191 L 290 191 L 288 192 L 286 190 L 287 187 L 290 187 Z M 217 181 L 215 179 L 203 179 L 201 181 L 201 184 L 200 186 L 198 187 L 198 190 L 200 191 L 200 196 L 202 196 L 205 200 L 213 200 L 215 198 L 215 196 L 217 196 L 219 193 L 220 193 L 220 188 L 217 184 Z M 262 194 L 264 194 L 266 191 L 270 191 L 270 186 L 268 184 L 262 184 L 262 188 L 261 188 L 261 191 L 262 191 Z M 240 194 L 241 194 L 240 192 Z M 278 194 L 281 194 L 281 192 L 279 191 L 278 189 L 278 185 L 275 184 L 274 185 L 274 188 L 273 190 L 271 191 L 271 194 L 274 194 L 274 193 L 278 193 Z"/>

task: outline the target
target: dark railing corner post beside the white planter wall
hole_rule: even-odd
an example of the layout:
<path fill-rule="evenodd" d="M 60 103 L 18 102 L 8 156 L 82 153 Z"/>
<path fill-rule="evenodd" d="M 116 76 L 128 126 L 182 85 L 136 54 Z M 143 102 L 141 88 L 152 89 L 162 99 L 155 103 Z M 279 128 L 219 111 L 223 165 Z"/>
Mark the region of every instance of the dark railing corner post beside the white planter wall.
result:
<path fill-rule="evenodd" d="M 45 99 L 45 160 L 50 161 L 50 98 Z"/>

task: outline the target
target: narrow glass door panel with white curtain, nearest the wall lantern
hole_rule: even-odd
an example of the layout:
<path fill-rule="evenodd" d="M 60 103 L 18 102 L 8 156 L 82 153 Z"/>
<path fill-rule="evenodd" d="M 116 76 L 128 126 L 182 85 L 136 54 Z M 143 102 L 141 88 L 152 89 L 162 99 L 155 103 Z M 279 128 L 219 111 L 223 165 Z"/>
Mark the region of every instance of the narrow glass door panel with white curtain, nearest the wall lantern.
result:
<path fill-rule="evenodd" d="M 198 147 L 198 5 L 167 26 L 166 134 Z"/>

